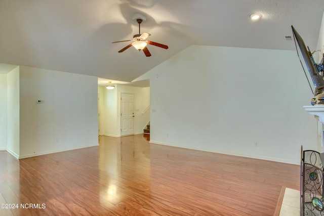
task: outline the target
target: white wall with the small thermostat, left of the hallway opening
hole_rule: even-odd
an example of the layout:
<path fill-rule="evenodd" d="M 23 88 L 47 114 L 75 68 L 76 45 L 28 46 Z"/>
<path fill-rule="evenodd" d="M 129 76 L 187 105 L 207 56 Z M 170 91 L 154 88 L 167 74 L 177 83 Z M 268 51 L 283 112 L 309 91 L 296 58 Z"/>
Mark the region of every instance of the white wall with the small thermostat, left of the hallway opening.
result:
<path fill-rule="evenodd" d="M 94 76 L 20 66 L 19 157 L 98 145 L 97 85 Z"/>

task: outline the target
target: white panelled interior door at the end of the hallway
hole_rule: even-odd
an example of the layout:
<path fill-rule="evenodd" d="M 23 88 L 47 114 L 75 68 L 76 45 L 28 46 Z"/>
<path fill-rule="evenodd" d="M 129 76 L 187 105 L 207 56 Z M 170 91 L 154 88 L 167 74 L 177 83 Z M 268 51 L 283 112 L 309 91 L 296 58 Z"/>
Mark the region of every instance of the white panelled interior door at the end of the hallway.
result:
<path fill-rule="evenodd" d="M 134 95 L 121 93 L 120 103 L 120 135 L 133 135 L 134 134 Z"/>

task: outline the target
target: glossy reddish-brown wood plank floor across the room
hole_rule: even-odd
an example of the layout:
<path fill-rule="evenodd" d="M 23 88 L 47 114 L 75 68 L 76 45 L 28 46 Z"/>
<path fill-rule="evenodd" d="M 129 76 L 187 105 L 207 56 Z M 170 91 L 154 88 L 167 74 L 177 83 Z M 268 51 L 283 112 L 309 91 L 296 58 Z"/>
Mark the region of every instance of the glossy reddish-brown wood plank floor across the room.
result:
<path fill-rule="evenodd" d="M 149 144 L 143 135 L 16 160 L 0 151 L 0 215 L 273 215 L 299 166 Z M 29 204 L 31 203 L 31 205 Z M 27 208 L 23 208 L 22 206 Z"/>

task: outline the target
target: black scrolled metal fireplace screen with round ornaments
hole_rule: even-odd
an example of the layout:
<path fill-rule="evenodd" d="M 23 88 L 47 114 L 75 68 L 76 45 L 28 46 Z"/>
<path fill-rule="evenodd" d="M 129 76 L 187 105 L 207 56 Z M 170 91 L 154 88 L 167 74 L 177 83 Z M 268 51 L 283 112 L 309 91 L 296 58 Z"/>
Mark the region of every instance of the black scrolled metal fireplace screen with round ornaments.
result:
<path fill-rule="evenodd" d="M 324 153 L 301 149 L 300 215 L 324 216 Z"/>

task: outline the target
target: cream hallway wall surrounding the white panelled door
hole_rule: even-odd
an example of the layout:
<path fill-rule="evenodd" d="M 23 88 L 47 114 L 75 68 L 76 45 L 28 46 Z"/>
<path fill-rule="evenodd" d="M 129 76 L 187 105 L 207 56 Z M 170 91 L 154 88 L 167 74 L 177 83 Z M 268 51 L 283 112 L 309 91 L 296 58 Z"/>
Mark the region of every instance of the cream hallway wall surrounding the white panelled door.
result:
<path fill-rule="evenodd" d="M 99 129 L 100 135 L 120 137 L 120 96 L 121 93 L 134 94 L 135 134 L 142 134 L 149 122 L 149 113 L 142 112 L 150 104 L 150 88 L 117 84 L 113 90 L 98 87 L 99 92 Z"/>

